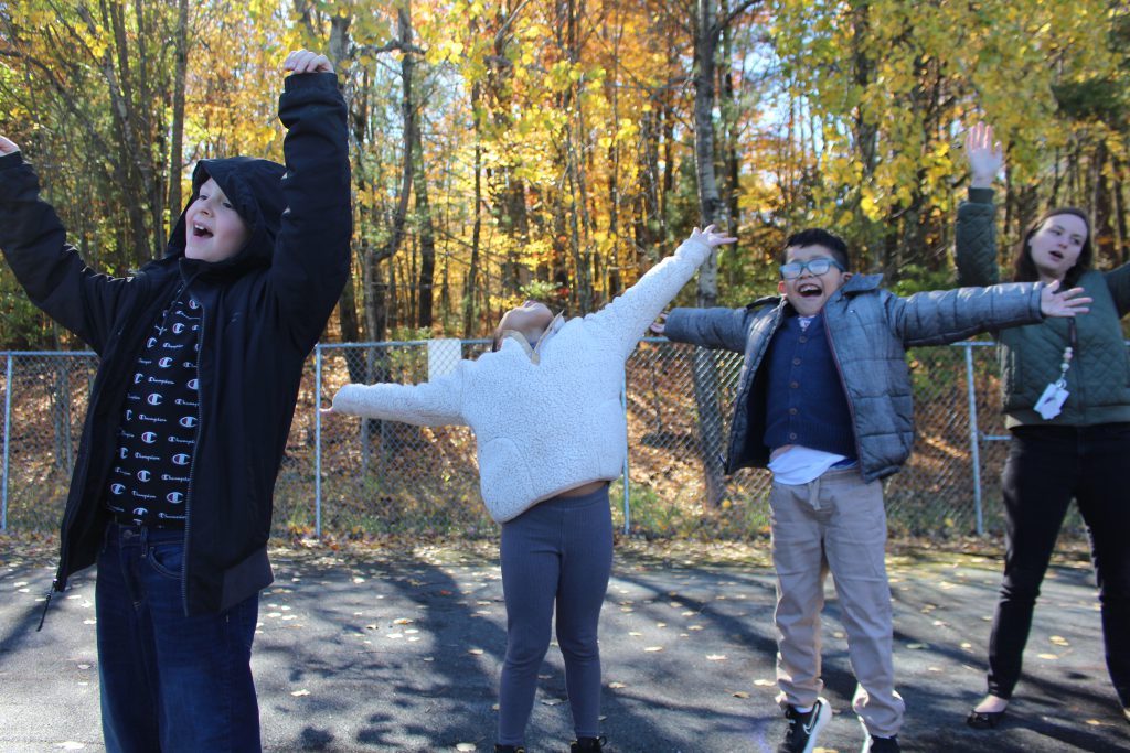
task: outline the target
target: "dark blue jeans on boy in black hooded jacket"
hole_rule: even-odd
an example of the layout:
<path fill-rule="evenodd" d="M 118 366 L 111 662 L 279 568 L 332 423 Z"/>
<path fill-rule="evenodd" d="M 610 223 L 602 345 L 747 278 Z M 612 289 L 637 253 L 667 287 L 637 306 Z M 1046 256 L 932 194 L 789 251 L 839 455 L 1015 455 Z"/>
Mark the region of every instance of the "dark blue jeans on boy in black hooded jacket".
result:
<path fill-rule="evenodd" d="M 188 618 L 184 532 L 111 523 L 95 606 L 110 753 L 258 752 L 251 642 L 259 596 Z"/>

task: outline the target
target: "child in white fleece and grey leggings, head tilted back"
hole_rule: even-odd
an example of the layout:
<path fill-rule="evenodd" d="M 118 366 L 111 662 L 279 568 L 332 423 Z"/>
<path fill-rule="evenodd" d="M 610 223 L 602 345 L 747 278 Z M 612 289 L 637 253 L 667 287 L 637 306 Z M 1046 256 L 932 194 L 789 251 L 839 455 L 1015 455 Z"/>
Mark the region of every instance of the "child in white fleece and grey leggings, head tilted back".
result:
<path fill-rule="evenodd" d="M 503 315 L 494 352 L 435 382 L 351 384 L 333 396 L 334 413 L 475 431 L 483 499 L 503 524 L 507 638 L 496 752 L 524 745 L 555 601 L 577 736 L 571 750 L 601 750 L 597 624 L 612 558 L 608 482 L 627 453 L 624 364 L 711 249 L 733 240 L 695 228 L 594 314 L 565 321 L 525 301 Z"/>

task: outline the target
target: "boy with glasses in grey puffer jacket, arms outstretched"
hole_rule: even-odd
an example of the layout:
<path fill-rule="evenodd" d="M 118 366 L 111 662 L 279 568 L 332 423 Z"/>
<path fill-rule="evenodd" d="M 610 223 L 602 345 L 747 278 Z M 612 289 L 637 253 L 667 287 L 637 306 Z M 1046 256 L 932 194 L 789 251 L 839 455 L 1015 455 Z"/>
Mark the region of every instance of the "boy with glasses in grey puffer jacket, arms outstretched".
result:
<path fill-rule="evenodd" d="M 904 704 L 892 664 L 890 588 L 880 480 L 914 441 L 906 349 L 990 329 L 1085 313 L 1081 290 L 1035 283 L 899 298 L 881 275 L 850 272 L 840 237 L 789 238 L 779 297 L 738 309 L 676 308 L 652 330 L 676 342 L 745 353 L 725 471 L 773 472 L 780 753 L 809 753 L 832 710 L 820 698 L 820 611 L 831 571 L 852 671 L 863 751 L 898 751 Z"/>

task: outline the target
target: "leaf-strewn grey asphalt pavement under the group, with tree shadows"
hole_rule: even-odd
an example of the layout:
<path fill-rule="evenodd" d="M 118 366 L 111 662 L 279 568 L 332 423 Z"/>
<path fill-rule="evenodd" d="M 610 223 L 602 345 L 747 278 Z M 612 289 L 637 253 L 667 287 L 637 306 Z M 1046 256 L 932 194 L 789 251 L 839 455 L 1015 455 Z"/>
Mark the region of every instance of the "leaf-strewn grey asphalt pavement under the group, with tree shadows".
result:
<path fill-rule="evenodd" d="M 0 751 L 104 751 L 94 640 L 94 570 L 52 599 L 50 545 L 0 536 Z M 601 616 L 608 751 L 772 752 L 773 571 L 764 548 L 618 545 Z M 505 608 L 489 545 L 386 550 L 322 544 L 272 551 L 252 660 L 266 751 L 493 751 Z M 904 751 L 1130 750 L 1103 662 L 1093 576 L 1054 567 L 1037 606 L 1025 678 L 1005 724 L 968 729 L 999 562 L 927 553 L 888 559 Z M 820 744 L 859 751 L 862 729 L 831 581 Z M 560 653 L 549 649 L 530 753 L 568 750 Z"/>

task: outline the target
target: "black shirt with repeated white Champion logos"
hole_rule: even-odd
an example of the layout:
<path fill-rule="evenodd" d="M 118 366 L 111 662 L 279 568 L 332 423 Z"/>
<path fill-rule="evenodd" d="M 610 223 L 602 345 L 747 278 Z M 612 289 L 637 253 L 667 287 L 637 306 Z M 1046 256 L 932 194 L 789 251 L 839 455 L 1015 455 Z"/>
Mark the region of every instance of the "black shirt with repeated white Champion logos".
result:
<path fill-rule="evenodd" d="M 200 304 L 182 288 L 154 323 L 131 374 L 104 497 L 119 523 L 184 525 L 200 423 L 201 321 Z"/>

